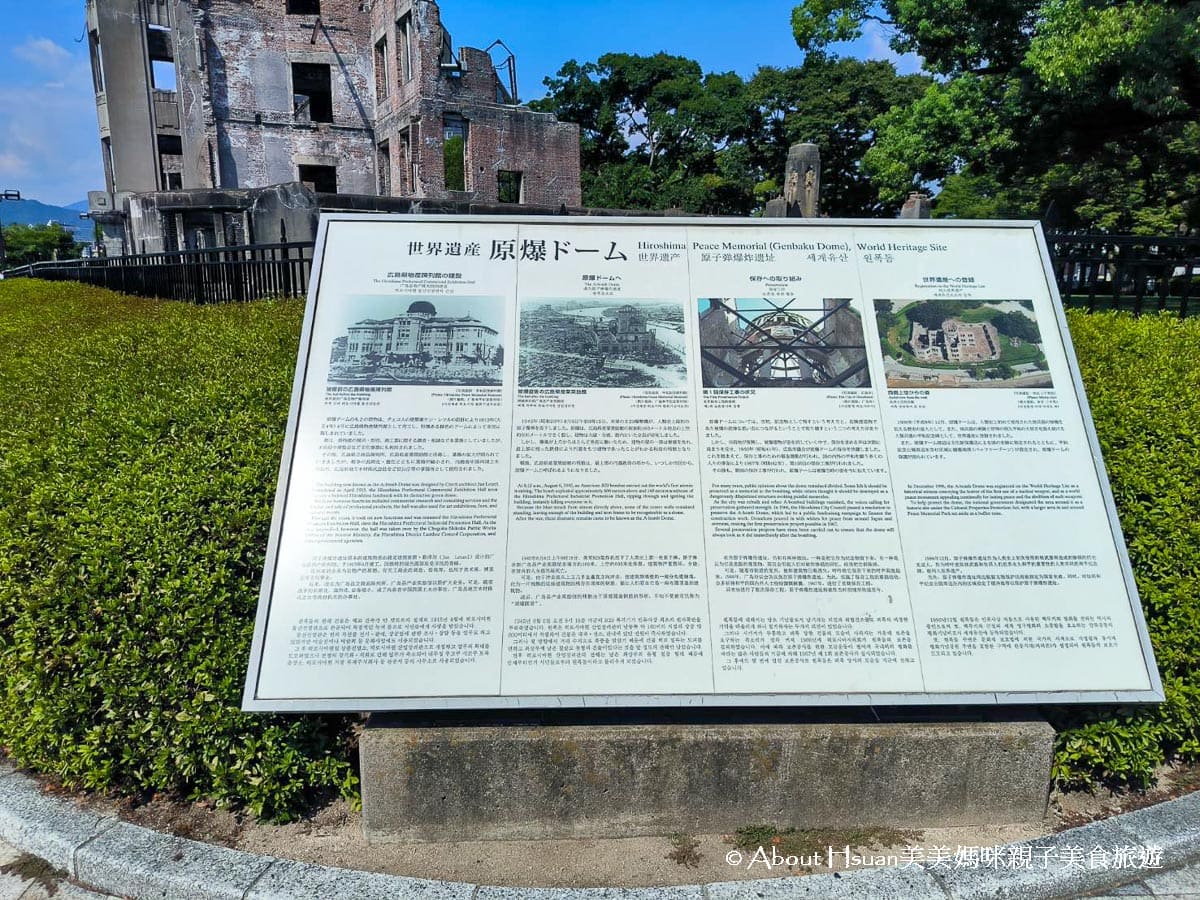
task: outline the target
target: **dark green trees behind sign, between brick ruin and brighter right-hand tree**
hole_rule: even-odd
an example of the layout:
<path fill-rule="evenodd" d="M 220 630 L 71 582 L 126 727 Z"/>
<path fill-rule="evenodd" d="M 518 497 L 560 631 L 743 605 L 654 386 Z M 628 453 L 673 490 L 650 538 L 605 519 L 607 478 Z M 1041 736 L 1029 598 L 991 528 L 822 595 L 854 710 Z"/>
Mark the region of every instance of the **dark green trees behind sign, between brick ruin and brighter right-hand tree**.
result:
<path fill-rule="evenodd" d="M 899 208 L 863 170 L 872 122 L 931 79 L 820 53 L 749 80 L 666 53 L 610 53 L 570 60 L 545 83 L 548 96 L 532 106 L 580 125 L 587 205 L 746 215 L 778 192 L 788 146 L 810 140 L 821 148 L 822 210 L 872 216 Z"/>

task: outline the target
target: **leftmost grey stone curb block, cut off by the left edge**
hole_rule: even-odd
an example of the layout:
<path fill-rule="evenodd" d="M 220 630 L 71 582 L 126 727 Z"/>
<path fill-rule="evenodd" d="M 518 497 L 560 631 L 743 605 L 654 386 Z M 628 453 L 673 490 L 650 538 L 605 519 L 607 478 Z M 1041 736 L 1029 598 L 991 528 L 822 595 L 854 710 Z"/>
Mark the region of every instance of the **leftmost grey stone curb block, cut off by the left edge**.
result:
<path fill-rule="evenodd" d="M 55 869 L 73 874 L 76 847 L 115 822 L 47 797 L 30 779 L 0 779 L 0 839 L 41 857 Z"/>

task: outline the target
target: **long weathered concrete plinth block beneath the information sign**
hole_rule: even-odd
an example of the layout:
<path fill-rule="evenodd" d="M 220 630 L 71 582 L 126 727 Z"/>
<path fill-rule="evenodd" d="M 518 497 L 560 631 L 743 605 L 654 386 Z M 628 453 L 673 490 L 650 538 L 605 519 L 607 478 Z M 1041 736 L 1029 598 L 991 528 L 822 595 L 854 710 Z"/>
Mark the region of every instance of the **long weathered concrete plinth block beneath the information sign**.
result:
<path fill-rule="evenodd" d="M 1040 821 L 1044 721 L 398 727 L 362 734 L 370 840 Z"/>

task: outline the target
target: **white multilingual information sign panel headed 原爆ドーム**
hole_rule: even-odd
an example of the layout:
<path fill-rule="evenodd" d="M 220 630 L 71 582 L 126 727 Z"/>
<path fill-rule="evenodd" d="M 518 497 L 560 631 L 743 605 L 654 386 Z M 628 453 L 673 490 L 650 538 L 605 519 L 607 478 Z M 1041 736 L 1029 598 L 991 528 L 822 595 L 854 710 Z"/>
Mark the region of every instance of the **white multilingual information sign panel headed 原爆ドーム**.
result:
<path fill-rule="evenodd" d="M 323 220 L 247 709 L 1162 696 L 1036 223 Z"/>

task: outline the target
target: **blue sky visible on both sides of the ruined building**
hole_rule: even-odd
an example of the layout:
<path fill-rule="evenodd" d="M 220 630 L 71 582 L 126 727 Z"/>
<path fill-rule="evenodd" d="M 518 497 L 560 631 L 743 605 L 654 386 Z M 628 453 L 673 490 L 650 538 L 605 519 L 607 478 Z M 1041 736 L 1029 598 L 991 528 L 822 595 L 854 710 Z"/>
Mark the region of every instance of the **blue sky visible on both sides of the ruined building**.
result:
<path fill-rule="evenodd" d="M 0 190 L 43 203 L 82 200 L 103 187 L 96 106 L 84 36 L 83 0 L 2 0 L 0 32 Z M 517 56 L 522 100 L 544 94 L 542 78 L 569 59 L 666 50 L 706 71 L 754 74 L 798 65 L 788 25 L 794 0 L 440 0 L 455 44 L 497 37 Z M 874 30 L 847 55 L 893 59 Z M 913 59 L 899 60 L 916 71 Z M 0 217 L 4 210 L 0 209 Z"/>

